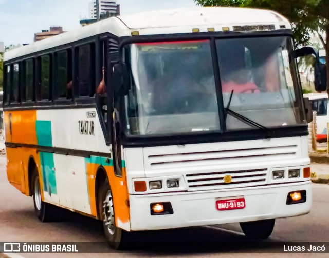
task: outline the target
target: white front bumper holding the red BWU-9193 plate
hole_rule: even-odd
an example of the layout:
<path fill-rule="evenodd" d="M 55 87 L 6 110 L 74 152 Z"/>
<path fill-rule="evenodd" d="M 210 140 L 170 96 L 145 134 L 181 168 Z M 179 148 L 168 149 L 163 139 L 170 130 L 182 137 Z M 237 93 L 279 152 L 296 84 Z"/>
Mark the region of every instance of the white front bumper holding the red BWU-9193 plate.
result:
<path fill-rule="evenodd" d="M 306 202 L 287 205 L 289 192 L 306 190 Z M 307 214 L 312 204 L 310 181 L 227 189 L 130 195 L 131 230 L 158 230 L 275 219 Z M 243 209 L 217 210 L 216 201 L 243 197 Z M 172 214 L 151 215 L 151 204 L 170 203 Z"/>

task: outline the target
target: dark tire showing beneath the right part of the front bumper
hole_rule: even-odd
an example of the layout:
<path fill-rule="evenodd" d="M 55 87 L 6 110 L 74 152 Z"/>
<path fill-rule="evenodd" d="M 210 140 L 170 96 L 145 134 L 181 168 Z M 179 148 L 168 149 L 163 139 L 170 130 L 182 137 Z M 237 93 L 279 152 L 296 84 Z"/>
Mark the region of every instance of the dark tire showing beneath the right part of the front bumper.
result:
<path fill-rule="evenodd" d="M 275 219 L 241 222 L 242 231 L 251 239 L 267 239 L 273 231 Z"/>

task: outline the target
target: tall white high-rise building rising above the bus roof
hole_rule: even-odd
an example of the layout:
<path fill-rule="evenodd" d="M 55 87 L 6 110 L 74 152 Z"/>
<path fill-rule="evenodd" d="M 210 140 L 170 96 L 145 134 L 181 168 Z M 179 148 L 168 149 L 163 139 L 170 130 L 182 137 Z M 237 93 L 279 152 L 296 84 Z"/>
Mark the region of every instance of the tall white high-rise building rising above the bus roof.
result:
<path fill-rule="evenodd" d="M 120 5 L 117 5 L 116 0 L 99 0 L 99 13 L 103 18 L 120 15 Z M 89 19 L 96 19 L 96 1 L 89 4 Z"/>

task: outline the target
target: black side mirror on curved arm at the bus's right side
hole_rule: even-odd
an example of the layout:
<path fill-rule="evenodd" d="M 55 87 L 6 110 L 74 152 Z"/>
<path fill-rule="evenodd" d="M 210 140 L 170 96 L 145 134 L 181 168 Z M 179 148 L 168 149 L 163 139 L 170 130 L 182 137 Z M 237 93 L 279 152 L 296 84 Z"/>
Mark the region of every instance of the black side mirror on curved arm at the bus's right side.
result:
<path fill-rule="evenodd" d="M 325 91 L 327 89 L 326 65 L 320 63 L 319 50 L 315 47 L 307 46 L 294 51 L 294 57 L 303 57 L 306 55 L 315 56 L 314 64 L 314 86 L 316 91 Z"/>

